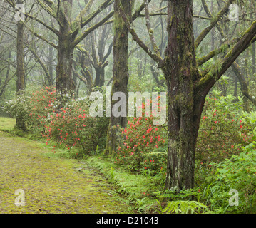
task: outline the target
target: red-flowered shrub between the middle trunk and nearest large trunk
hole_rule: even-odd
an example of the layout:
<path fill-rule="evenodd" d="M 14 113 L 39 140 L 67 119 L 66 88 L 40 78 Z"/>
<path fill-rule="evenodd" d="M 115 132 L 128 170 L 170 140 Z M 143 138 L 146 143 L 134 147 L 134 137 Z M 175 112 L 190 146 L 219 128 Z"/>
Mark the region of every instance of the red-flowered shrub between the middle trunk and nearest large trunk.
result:
<path fill-rule="evenodd" d="M 146 105 L 150 103 L 152 101 L 148 100 Z M 152 114 L 145 117 L 145 103 L 141 108 L 142 117 L 130 118 L 127 127 L 121 129 L 123 145 L 118 148 L 116 163 L 126 165 L 132 172 L 151 170 L 155 173 L 166 164 L 167 153 L 163 150 L 166 131 L 162 125 L 153 125 L 155 117 Z"/>

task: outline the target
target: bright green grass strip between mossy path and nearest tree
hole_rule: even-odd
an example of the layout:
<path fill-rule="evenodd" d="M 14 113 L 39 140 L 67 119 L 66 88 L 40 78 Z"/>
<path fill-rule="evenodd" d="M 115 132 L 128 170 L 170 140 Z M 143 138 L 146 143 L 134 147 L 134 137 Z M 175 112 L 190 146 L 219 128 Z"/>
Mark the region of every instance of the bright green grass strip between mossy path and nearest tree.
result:
<path fill-rule="evenodd" d="M 145 174 L 133 174 L 124 170 L 111 160 L 104 157 L 88 157 L 83 162 L 95 167 L 103 173 L 109 182 L 116 186 L 116 191 L 126 196 L 129 202 L 135 204 L 138 212 L 154 213 L 158 211 L 156 201 L 157 192 L 160 190 L 159 182 L 165 174 L 150 176 Z"/>

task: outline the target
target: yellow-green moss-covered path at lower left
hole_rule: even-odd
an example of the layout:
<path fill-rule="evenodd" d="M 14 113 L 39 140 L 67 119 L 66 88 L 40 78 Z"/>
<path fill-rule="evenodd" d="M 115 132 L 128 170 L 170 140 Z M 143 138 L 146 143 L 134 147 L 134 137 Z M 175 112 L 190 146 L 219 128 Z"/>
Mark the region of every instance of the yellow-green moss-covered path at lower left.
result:
<path fill-rule="evenodd" d="M 133 213 L 113 187 L 90 166 L 48 156 L 40 142 L 0 133 L 0 213 Z M 17 207 L 15 191 L 25 192 Z"/>

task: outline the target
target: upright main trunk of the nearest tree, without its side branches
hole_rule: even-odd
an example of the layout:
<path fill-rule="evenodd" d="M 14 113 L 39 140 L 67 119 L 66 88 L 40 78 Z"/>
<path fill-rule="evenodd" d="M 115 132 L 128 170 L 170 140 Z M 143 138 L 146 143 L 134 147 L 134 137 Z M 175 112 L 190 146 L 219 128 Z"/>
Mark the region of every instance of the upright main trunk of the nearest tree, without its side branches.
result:
<path fill-rule="evenodd" d="M 192 1 L 168 1 L 168 47 L 163 72 L 168 86 L 168 165 L 165 189 L 193 188 L 195 143 L 204 97 L 194 92 L 198 78 Z M 185 34 L 185 36 L 184 36 Z"/>

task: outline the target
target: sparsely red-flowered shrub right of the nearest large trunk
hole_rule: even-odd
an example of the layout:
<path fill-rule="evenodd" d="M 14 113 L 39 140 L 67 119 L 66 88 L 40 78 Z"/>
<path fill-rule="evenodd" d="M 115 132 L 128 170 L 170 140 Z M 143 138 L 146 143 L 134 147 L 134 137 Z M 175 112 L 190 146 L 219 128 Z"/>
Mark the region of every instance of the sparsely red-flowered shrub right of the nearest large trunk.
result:
<path fill-rule="evenodd" d="M 238 155 L 241 145 L 252 141 L 253 135 L 241 116 L 242 99 L 236 103 L 233 100 L 232 95 L 206 99 L 196 146 L 196 158 L 202 162 L 220 162 Z"/>

